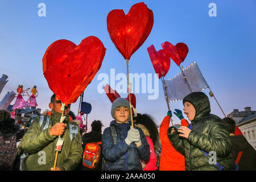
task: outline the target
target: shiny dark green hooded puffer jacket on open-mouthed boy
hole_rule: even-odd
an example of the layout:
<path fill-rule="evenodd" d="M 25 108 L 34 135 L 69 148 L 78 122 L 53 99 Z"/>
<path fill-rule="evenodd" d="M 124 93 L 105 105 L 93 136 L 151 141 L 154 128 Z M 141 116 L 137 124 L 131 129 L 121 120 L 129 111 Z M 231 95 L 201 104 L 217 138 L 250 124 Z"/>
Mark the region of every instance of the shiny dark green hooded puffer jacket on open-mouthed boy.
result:
<path fill-rule="evenodd" d="M 172 134 L 172 127 L 167 130 L 172 146 L 185 155 L 186 170 L 218 170 L 214 164 L 209 163 L 209 159 L 201 150 L 215 151 L 217 162 L 224 167 L 224 170 L 232 170 L 234 162 L 228 129 L 221 118 L 210 114 L 208 97 L 203 92 L 193 92 L 184 98 L 183 104 L 187 101 L 196 109 L 195 118 L 191 121 L 192 131 L 189 133 L 188 139 L 181 139 L 177 129 Z"/>

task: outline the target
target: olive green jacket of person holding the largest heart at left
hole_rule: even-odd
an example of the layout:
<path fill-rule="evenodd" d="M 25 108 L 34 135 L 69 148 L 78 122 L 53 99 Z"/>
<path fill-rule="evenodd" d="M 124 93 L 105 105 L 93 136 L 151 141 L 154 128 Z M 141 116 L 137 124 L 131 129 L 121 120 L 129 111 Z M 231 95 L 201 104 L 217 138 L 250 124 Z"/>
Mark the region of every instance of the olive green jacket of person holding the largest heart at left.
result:
<path fill-rule="evenodd" d="M 57 136 L 51 136 L 49 129 L 55 123 L 60 122 L 60 113 L 51 111 L 48 127 L 40 126 L 40 117 L 36 117 L 35 121 L 30 126 L 22 139 L 22 148 L 29 155 L 24 159 L 25 169 L 29 171 L 46 171 L 53 167 L 56 155 Z M 46 116 L 45 116 L 46 117 Z M 65 127 L 64 143 L 61 151 L 57 156 L 56 167 L 68 171 L 74 170 L 82 159 L 82 144 L 79 126 L 76 122 L 71 122 L 68 117 L 63 121 L 67 124 Z M 42 123 L 42 119 L 41 119 Z M 46 126 L 46 128 L 42 128 Z"/>

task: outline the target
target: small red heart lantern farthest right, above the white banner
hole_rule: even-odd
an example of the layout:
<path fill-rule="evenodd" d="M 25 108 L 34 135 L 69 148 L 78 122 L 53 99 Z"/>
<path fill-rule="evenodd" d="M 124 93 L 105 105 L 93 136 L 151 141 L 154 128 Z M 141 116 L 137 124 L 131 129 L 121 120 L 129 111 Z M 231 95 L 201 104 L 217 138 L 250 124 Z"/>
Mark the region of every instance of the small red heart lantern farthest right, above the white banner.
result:
<path fill-rule="evenodd" d="M 171 57 L 172 60 L 179 66 L 188 54 L 188 46 L 184 43 L 177 43 L 176 46 L 170 42 L 162 43 L 164 52 Z"/>

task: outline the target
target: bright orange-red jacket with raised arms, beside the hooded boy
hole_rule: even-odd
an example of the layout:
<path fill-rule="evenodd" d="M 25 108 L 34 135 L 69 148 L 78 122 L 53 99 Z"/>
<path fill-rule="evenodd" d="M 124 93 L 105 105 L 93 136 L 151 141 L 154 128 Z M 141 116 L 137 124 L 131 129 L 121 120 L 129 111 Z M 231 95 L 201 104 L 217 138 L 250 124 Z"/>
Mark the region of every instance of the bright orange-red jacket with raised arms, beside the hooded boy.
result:
<path fill-rule="evenodd" d="M 185 171 L 185 158 L 177 152 L 167 136 L 167 130 L 170 125 L 171 118 L 167 115 L 164 117 L 159 129 L 160 142 L 162 151 L 160 157 L 159 171 Z M 181 119 L 182 126 L 188 126 L 185 119 Z"/>

